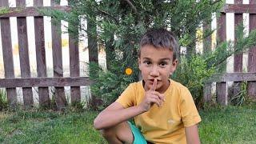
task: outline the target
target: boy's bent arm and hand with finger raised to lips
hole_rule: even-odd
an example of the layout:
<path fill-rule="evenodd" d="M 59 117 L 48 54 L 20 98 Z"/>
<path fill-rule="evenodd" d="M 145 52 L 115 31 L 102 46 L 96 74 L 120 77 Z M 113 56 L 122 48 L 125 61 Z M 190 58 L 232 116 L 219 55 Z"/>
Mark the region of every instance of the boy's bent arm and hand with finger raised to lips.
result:
<path fill-rule="evenodd" d="M 143 101 L 138 106 L 131 106 L 125 109 L 118 102 L 114 102 L 110 106 L 107 106 L 106 109 L 94 119 L 94 128 L 101 130 L 115 126 L 120 122 L 125 122 L 130 118 L 134 118 L 135 116 L 150 110 L 150 107 L 153 104 L 162 106 L 164 96 L 155 91 L 156 86 L 157 80 L 154 79 L 153 86 L 150 90 L 146 91 Z"/>

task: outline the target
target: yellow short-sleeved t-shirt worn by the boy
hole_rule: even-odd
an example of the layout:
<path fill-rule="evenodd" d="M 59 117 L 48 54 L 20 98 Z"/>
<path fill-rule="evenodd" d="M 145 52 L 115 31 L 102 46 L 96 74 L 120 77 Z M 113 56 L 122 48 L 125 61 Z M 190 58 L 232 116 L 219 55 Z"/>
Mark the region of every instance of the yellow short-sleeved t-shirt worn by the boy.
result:
<path fill-rule="evenodd" d="M 170 80 L 164 95 L 166 101 L 162 107 L 154 104 L 149 111 L 134 118 L 135 124 L 149 142 L 186 143 L 185 127 L 201 122 L 190 91 L 182 84 Z M 134 82 L 116 102 L 124 108 L 137 106 L 144 96 L 142 81 Z"/>

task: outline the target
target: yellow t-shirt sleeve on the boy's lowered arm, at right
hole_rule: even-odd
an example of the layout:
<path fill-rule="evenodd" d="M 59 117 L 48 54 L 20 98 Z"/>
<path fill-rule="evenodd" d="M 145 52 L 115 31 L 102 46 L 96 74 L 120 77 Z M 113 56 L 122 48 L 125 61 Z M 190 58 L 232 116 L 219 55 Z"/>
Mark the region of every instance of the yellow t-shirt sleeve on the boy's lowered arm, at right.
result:
<path fill-rule="evenodd" d="M 185 127 L 194 126 L 198 122 L 201 122 L 200 115 L 198 114 L 198 110 L 188 89 L 182 91 L 180 110 L 182 122 Z"/>

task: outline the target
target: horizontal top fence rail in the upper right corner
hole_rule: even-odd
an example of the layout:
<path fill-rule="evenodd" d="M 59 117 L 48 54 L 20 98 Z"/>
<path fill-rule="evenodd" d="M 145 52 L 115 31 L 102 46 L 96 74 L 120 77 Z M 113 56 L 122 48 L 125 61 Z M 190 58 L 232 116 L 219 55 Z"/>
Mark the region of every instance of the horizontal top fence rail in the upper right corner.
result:
<path fill-rule="evenodd" d="M 235 14 L 256 14 L 256 4 L 226 4 L 223 6 L 221 12 Z"/>

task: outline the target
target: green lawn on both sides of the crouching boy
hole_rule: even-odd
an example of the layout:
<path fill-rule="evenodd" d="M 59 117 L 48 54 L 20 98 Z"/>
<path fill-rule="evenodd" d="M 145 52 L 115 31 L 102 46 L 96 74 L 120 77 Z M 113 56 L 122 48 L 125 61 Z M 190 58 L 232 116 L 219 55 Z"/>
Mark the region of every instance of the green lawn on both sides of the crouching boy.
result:
<path fill-rule="evenodd" d="M 92 123 L 98 112 L 0 112 L 0 143 L 106 143 Z M 202 143 L 255 143 L 256 106 L 200 111 Z"/>

